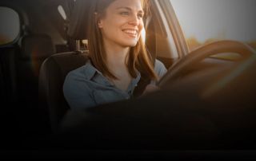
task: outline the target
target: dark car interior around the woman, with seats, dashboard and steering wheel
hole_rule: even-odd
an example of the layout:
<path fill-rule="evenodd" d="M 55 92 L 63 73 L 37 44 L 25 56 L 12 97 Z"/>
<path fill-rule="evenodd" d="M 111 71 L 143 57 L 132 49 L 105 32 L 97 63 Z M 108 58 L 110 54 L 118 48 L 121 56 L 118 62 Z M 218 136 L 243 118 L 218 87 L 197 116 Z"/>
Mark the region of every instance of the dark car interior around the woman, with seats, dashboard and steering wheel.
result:
<path fill-rule="evenodd" d="M 63 158 L 255 157 L 255 50 L 226 40 L 189 52 L 166 0 L 151 0 L 152 16 L 145 20 L 147 49 L 168 69 L 158 81 L 161 89 L 70 111 L 62 85 L 67 73 L 88 60 L 82 40 L 87 39 L 92 2 L 0 2 L 18 13 L 20 23 L 18 37 L 0 45 L 1 149 L 6 155 L 14 150 L 18 156 L 37 155 L 17 151 L 37 149 Z M 172 16 L 162 20 L 159 7 Z M 238 57 L 216 57 L 222 53 Z M 54 151 L 70 149 L 80 151 Z"/>

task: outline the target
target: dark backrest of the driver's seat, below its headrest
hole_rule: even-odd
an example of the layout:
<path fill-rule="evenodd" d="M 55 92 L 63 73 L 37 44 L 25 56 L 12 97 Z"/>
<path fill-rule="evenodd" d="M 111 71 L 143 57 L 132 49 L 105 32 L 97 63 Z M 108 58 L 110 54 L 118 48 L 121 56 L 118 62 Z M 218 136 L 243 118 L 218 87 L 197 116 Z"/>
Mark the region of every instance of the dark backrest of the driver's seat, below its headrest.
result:
<path fill-rule="evenodd" d="M 39 107 L 45 115 L 50 128 L 55 132 L 62 116 L 70 108 L 67 104 L 62 87 L 66 74 L 84 65 L 88 57 L 86 53 L 57 53 L 43 62 L 39 74 Z"/>

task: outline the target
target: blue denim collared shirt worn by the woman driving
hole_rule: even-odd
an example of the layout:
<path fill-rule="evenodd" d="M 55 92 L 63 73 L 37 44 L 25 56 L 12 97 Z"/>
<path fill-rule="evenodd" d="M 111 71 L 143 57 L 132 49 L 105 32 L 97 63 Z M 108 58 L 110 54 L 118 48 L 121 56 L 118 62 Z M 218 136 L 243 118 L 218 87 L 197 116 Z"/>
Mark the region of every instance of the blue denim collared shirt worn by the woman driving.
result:
<path fill-rule="evenodd" d="M 155 61 L 154 70 L 159 77 L 166 73 L 166 67 L 158 60 Z M 137 73 L 137 77 L 132 79 L 127 90 L 123 91 L 108 81 L 98 69 L 91 65 L 90 61 L 87 61 L 86 65 L 67 74 L 63 92 L 70 108 L 80 110 L 98 104 L 130 99 L 140 78 L 141 74 Z M 151 81 L 151 84 L 154 83 Z"/>

